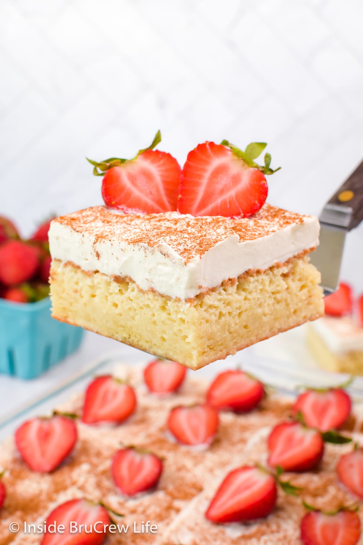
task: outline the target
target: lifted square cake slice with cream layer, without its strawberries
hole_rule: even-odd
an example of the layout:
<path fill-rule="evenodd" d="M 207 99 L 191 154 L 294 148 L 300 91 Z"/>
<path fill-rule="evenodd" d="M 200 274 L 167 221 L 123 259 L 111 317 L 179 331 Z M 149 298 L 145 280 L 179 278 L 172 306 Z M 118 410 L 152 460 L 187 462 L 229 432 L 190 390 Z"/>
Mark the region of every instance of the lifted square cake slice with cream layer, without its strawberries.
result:
<path fill-rule="evenodd" d="M 53 220 L 53 317 L 198 369 L 323 314 L 319 223 L 105 207 Z"/>

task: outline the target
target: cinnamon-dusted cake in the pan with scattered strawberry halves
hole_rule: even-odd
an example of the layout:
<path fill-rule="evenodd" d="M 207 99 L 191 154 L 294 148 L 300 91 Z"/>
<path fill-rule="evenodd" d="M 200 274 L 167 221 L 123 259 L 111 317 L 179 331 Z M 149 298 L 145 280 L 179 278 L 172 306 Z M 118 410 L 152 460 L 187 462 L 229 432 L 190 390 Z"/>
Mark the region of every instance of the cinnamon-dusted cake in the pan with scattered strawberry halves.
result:
<path fill-rule="evenodd" d="M 243 370 L 186 371 L 117 366 L 23 422 L 0 450 L 0 545 L 361 543 L 346 391 L 293 399 Z"/>

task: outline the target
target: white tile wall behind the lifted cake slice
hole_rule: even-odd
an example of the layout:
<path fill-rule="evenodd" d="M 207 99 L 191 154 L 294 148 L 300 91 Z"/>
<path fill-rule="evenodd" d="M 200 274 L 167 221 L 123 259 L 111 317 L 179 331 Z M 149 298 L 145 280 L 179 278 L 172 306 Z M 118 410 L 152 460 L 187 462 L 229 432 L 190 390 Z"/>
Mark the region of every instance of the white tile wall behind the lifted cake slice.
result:
<path fill-rule="evenodd" d="M 162 130 L 182 163 L 267 141 L 269 201 L 319 213 L 363 158 L 363 0 L 0 0 L 0 213 L 101 202 L 85 155 Z M 363 227 L 343 277 L 363 291 Z"/>

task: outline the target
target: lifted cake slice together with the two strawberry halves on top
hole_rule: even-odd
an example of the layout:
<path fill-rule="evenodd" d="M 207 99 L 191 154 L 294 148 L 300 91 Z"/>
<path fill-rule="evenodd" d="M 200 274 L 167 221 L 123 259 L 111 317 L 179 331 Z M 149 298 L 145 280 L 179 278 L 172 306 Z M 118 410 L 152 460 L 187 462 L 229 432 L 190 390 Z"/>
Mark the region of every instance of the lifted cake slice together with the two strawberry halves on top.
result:
<path fill-rule="evenodd" d="M 193 369 L 323 314 L 319 222 L 265 203 L 266 144 L 94 165 L 104 206 L 53 220 L 53 317 Z"/>

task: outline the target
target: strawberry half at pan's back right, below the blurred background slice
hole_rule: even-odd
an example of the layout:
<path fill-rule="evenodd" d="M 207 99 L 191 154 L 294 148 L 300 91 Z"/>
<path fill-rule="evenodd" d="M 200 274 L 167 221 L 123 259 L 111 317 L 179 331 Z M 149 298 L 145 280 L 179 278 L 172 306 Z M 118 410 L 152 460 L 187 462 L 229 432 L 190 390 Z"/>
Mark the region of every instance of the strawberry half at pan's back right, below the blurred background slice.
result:
<path fill-rule="evenodd" d="M 341 388 L 330 388 L 301 393 L 293 405 L 293 414 L 300 412 L 307 426 L 327 432 L 342 426 L 351 409 L 352 402 L 347 392 Z"/>

